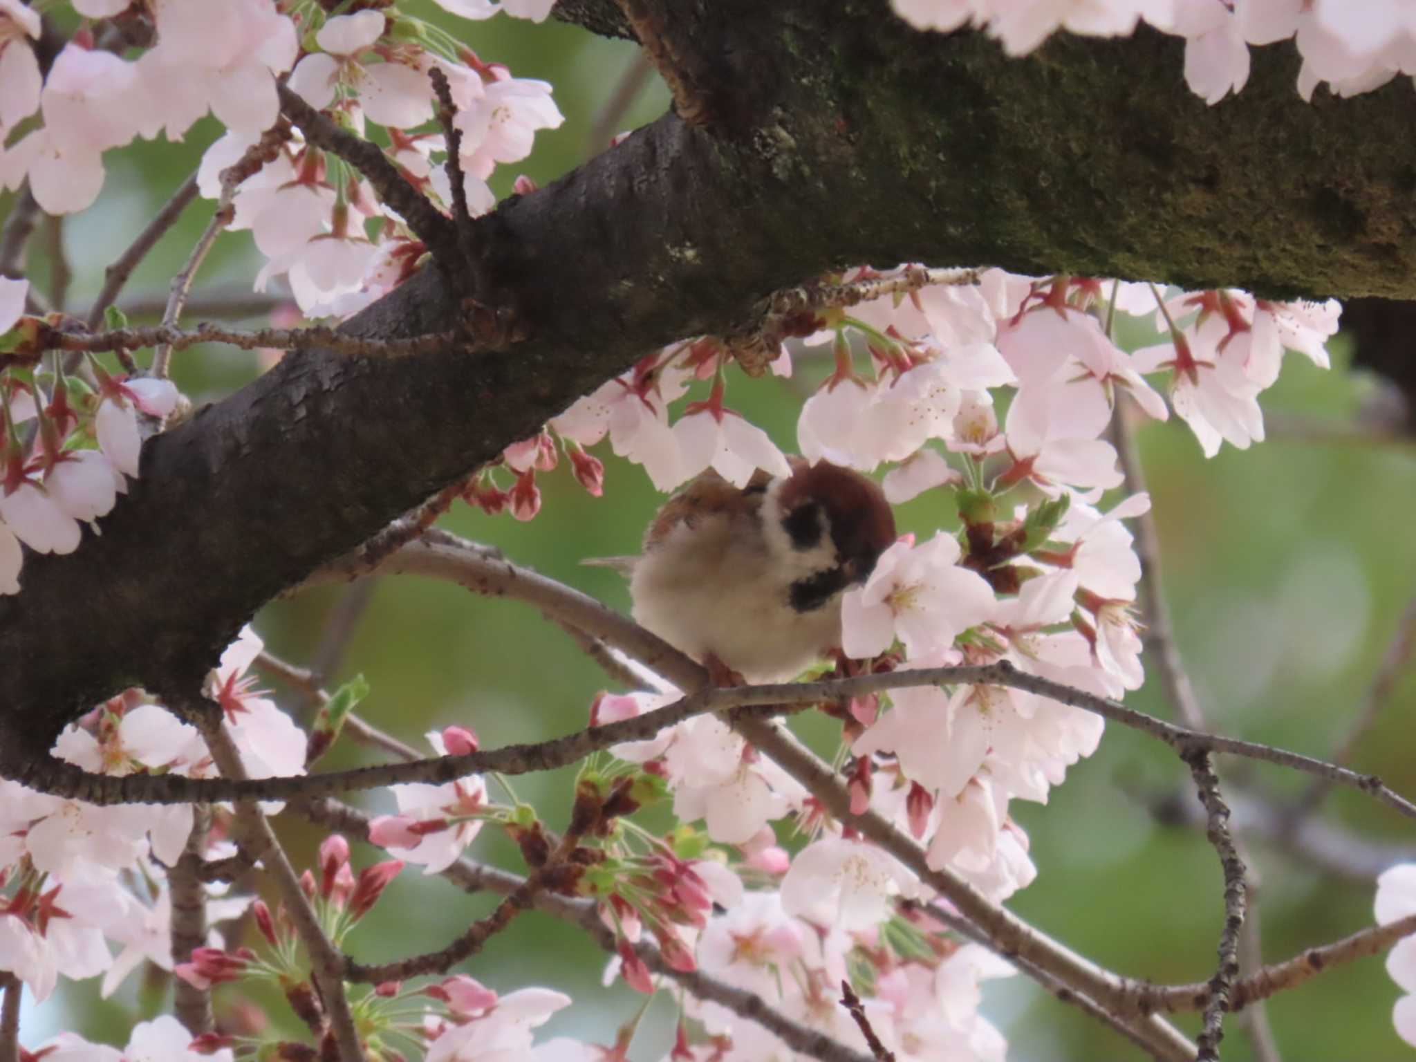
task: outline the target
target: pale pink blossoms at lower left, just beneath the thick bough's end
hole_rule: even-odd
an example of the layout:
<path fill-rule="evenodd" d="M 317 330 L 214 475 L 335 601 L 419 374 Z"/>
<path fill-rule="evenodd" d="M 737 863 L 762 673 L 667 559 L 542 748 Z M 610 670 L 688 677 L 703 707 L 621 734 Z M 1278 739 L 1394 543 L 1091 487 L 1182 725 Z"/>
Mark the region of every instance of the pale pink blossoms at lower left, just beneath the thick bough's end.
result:
<path fill-rule="evenodd" d="M 304 772 L 304 735 L 245 675 L 261 651 L 248 629 L 208 680 L 253 777 Z M 140 691 L 108 701 L 68 726 L 54 755 L 105 775 L 215 773 L 195 728 Z M 205 858 L 235 854 L 224 840 L 227 813 L 207 833 Z M 143 960 L 173 969 L 167 868 L 193 831 L 190 804 L 96 806 L 0 782 L 0 966 L 44 1000 L 59 976 L 103 974 L 109 995 Z M 208 919 L 246 909 L 249 898 L 208 888 Z M 119 946 L 112 954 L 106 942 Z M 212 944 L 219 936 L 212 935 Z"/>

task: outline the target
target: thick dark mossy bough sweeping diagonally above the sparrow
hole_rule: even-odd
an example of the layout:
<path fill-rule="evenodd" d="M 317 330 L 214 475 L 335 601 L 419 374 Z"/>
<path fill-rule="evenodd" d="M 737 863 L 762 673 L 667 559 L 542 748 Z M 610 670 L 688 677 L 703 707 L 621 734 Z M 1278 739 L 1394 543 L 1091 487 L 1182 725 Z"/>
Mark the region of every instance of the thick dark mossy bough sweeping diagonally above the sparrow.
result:
<path fill-rule="evenodd" d="M 885 0 L 644 0 L 692 57 L 707 125 L 674 115 L 477 222 L 476 270 L 428 269 L 350 323 L 453 327 L 455 287 L 527 338 L 401 361 L 286 358 L 143 452 L 102 537 L 27 556 L 0 599 L 0 770 L 130 684 L 191 688 L 262 603 L 677 337 L 750 321 L 833 266 L 923 261 L 1416 293 L 1405 81 L 1294 92 L 1290 45 L 1238 99 L 1184 86 L 1182 45 L 1063 37 L 1007 59 L 918 34 Z M 562 17 L 627 33 L 613 3 Z M 705 82 L 704 72 L 714 78 Z M 84 609 L 88 622 L 76 622 Z"/>

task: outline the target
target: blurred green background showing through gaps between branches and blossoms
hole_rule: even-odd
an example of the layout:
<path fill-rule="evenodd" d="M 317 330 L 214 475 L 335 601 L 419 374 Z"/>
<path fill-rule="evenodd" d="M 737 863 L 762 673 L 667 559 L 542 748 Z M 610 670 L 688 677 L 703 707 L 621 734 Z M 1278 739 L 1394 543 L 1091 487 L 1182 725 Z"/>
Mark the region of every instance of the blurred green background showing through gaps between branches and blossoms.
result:
<path fill-rule="evenodd" d="M 517 173 L 554 180 L 592 150 L 590 129 L 636 50 L 558 23 L 532 25 L 494 18 L 466 23 L 430 3 L 411 10 L 442 23 L 484 59 L 506 62 L 518 76 L 551 81 L 565 125 L 537 139 L 535 154 L 503 167 L 493 187 L 510 191 Z M 650 78 L 613 129 L 651 120 L 667 93 Z M 30 276 L 44 289 L 51 236 L 62 241 L 74 270 L 71 312 L 82 313 L 103 266 L 181 183 L 215 136 L 207 119 L 184 143 L 140 143 L 106 157 L 108 183 L 99 202 L 65 219 L 58 234 L 41 229 L 31 249 Z M 598 149 L 599 146 L 596 146 Z M 0 200 L 7 212 L 13 197 Z M 157 300 L 210 217 L 198 201 L 130 280 L 123 302 Z M 878 263 L 891 265 L 891 263 Z M 952 265 L 952 263 L 939 263 Z M 259 256 L 248 234 L 225 235 L 204 266 L 197 290 L 248 290 Z M 188 323 L 195 317 L 188 316 Z M 1307 438 L 1310 419 L 1347 422 L 1374 381 L 1345 371 L 1345 347 L 1332 344 L 1337 365 L 1323 372 L 1290 357 L 1276 388 L 1264 395 L 1276 436 L 1250 452 L 1225 447 L 1204 460 L 1178 421 L 1148 425 L 1141 433 L 1146 472 L 1154 496 L 1177 640 L 1209 718 L 1225 732 L 1325 755 L 1383 654 L 1408 599 L 1416 589 L 1416 466 L 1409 443 L 1362 445 Z M 178 385 L 201 404 L 217 401 L 256 371 L 248 353 L 210 347 L 176 358 Z M 735 378 L 729 401 L 793 449 L 796 413 L 816 370 L 804 365 L 793 381 Z M 469 415 L 474 411 L 469 405 Z M 598 447 L 603 450 L 605 447 Z M 585 568 L 586 556 L 632 552 L 640 528 L 660 498 L 644 474 L 602 452 L 606 497 L 590 498 L 568 467 L 542 479 L 541 515 L 518 524 L 459 506 L 443 523 L 452 530 L 503 547 L 520 564 L 578 586 L 616 607 L 627 607 L 623 581 L 606 569 Z M 258 510 L 261 498 L 251 500 Z M 901 511 L 905 530 L 929 534 L 953 514 L 937 498 L 920 498 Z M 321 633 L 348 590 L 326 589 L 272 605 L 256 627 L 273 651 L 297 664 L 312 660 Z M 585 722 L 602 673 L 552 624 L 514 602 L 483 600 L 416 579 L 384 579 L 333 683 L 362 673 L 372 694 L 361 712 L 405 741 L 447 724 L 476 728 L 484 745 L 532 741 Z M 280 688 L 295 711 L 300 701 Z M 1154 684 L 1129 704 L 1168 714 Z M 1416 793 L 1416 678 L 1398 683 L 1379 725 L 1358 749 L 1357 766 L 1381 773 L 1400 792 Z M 824 735 L 824 728 L 814 731 Z M 341 743 L 330 767 L 370 762 L 370 753 Z M 1231 777 L 1266 799 L 1297 793 L 1304 779 L 1247 765 L 1229 765 Z M 518 794 L 564 823 L 571 772 L 517 779 Z M 1015 803 L 1014 814 L 1032 840 L 1038 881 L 1010 906 L 1048 933 L 1120 973 L 1155 981 L 1204 980 L 1214 969 L 1221 923 L 1218 861 L 1201 833 L 1157 821 L 1153 804 L 1171 799 L 1189 806 L 1188 775 L 1153 741 L 1112 728 L 1100 752 L 1054 790 L 1049 807 Z M 382 794 L 361 799 L 388 809 Z M 1416 851 L 1409 821 L 1351 793 L 1337 793 L 1325 820 L 1365 843 Z M 319 834 L 297 821 L 279 823 L 297 862 L 307 862 Z M 1263 877 L 1262 915 L 1269 960 L 1337 939 L 1371 922 L 1374 884 L 1345 879 L 1273 844 L 1252 844 Z M 514 850 L 487 831 L 473 855 L 521 869 Z M 357 850 L 355 862 L 377 854 Z M 432 949 L 486 913 L 490 898 L 466 896 L 440 879 L 421 881 L 409 868 L 374 916 L 351 939 L 367 960 Z M 571 993 L 549 1032 L 600 1042 L 630 1018 L 641 997 L 622 986 L 600 987 L 605 956 L 583 935 L 532 913 L 496 937 L 466 969 L 498 988 L 535 983 Z M 93 983 L 55 997 L 27 1017 L 24 1041 L 72 1028 L 122 1044 L 137 1010 L 160 1003 L 130 978 L 118 998 L 101 1003 Z M 1277 1042 L 1287 1059 L 1400 1059 L 1413 1056 L 1395 1035 L 1391 1007 L 1396 987 L 1381 960 L 1364 960 L 1311 981 L 1269 1005 Z M 1010 1039 L 1010 1058 L 1123 1059 L 1134 1049 L 1113 1034 L 1056 1003 L 1025 978 L 987 986 L 986 1012 Z M 276 1021 L 289 1022 L 282 1007 Z M 663 1056 L 673 1004 L 654 1001 L 636 1039 L 636 1059 Z M 1185 1022 L 1194 1028 L 1194 1022 Z M 1225 1058 L 1250 1058 L 1246 1038 L 1231 1020 Z"/>

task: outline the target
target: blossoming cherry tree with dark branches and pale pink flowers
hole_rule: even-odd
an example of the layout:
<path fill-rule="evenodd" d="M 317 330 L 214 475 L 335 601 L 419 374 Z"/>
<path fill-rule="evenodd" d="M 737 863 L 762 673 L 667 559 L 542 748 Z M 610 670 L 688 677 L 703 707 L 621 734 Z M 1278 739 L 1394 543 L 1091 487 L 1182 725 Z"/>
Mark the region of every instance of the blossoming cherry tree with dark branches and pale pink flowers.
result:
<path fill-rule="evenodd" d="M 1293 355 L 1327 368 L 1338 297 L 1410 296 L 1416 4 L 438 3 L 459 33 L 392 3 L 0 0 L 0 1062 L 991 1061 L 1001 977 L 1119 1049 L 1218 1059 L 1238 1012 L 1276 1059 L 1273 995 L 1388 950 L 1416 993 L 1416 864 L 1366 875 L 1352 936 L 1266 963 L 1233 816 L 1262 762 L 1307 784 L 1270 809 L 1290 843 L 1337 787 L 1416 818 L 1349 766 L 1416 610 L 1334 750 L 1236 736 L 1171 634 L 1134 442 L 1174 413 L 1205 457 L 1262 443 Z M 633 41 L 671 110 L 498 201 L 562 123 L 552 84 L 477 51 L 500 16 Z M 64 312 L 21 268 L 37 219 L 103 211 L 125 150 L 208 113 L 200 167 Z M 188 207 L 210 225 L 133 324 L 127 278 Z M 242 229 L 279 310 L 194 323 Z M 218 343 L 266 371 L 194 408 L 173 360 Z M 807 381 L 790 440 L 738 405 L 770 377 Z M 939 514 L 792 683 L 705 667 L 438 524 L 473 506 L 572 535 L 541 493 L 558 467 L 609 506 L 606 464 L 743 487 L 790 473 L 783 443 Z M 282 595 L 375 575 L 527 602 L 615 690 L 534 743 L 375 726 L 361 681 L 324 688 L 256 633 Z M 1168 716 L 1123 702 L 1147 681 Z M 1048 881 L 1017 809 L 1117 729 L 1171 755 L 1219 864 L 1192 983 L 1005 903 Z M 377 756 L 320 766 L 350 742 Z M 517 799 L 566 766 L 561 821 Z M 387 813 L 346 803 L 362 790 Z M 296 818 L 324 831 L 307 867 Z M 520 871 L 469 854 L 491 833 Z M 353 930 L 413 871 L 500 901 L 367 961 Z M 479 953 L 530 909 L 589 935 L 607 980 L 667 990 L 673 1038 L 548 1037 L 593 1003 L 484 984 Z M 123 1045 L 25 1037 L 23 1001 L 140 969 L 171 974 L 171 1012 Z M 215 1017 L 272 986 L 287 1021 Z"/>

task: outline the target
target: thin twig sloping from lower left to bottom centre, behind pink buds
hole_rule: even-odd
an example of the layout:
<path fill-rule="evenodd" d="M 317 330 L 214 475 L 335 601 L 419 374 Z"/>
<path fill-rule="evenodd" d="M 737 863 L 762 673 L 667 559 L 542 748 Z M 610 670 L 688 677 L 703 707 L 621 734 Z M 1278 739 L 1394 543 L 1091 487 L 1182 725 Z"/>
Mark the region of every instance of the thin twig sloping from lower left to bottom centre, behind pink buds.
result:
<path fill-rule="evenodd" d="M 302 801 L 296 804 L 296 810 L 312 821 L 338 830 L 347 837 L 368 840 L 368 816 L 338 800 Z M 484 867 L 467 858 L 459 858 L 442 871 L 442 877 L 464 892 L 486 889 L 503 896 L 511 895 L 525 882 L 525 878 L 517 874 Z M 615 932 L 600 920 L 595 903 L 556 892 L 541 892 L 535 896 L 535 906 L 579 926 L 605 952 L 616 953 Z M 663 954 L 647 939 L 634 946 L 634 954 L 653 973 L 677 981 L 700 1000 L 716 1003 L 741 1018 L 755 1021 L 806 1058 L 818 1059 L 818 1062 L 871 1062 L 868 1055 L 851 1051 L 838 1041 L 786 1017 L 756 993 L 719 981 L 700 970 L 675 970 L 664 961 Z"/>

